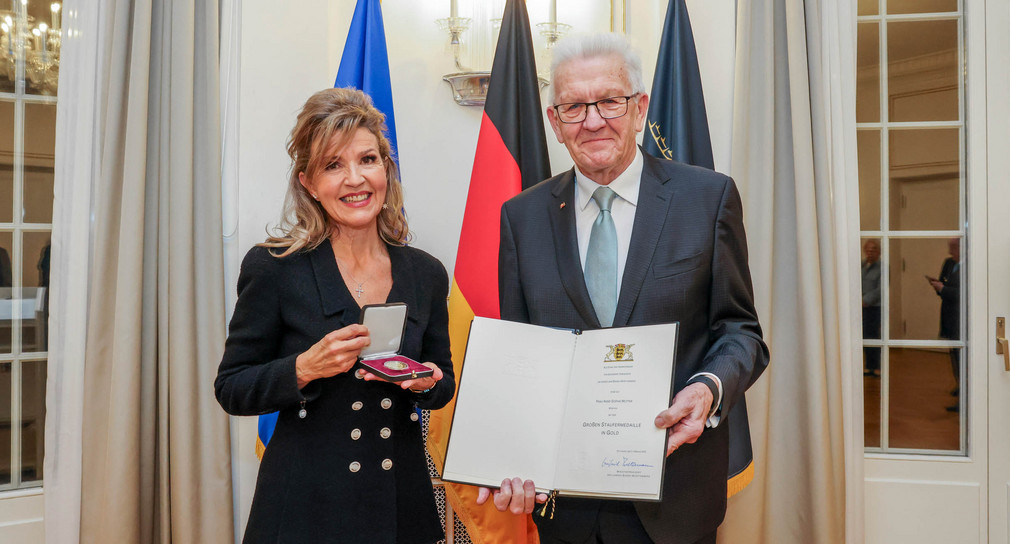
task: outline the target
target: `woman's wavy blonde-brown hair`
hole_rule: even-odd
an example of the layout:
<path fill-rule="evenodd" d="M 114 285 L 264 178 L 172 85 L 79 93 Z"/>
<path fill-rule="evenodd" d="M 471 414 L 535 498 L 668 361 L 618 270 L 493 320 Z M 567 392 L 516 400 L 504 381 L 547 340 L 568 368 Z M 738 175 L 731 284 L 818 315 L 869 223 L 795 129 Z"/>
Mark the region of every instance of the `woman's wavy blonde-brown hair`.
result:
<path fill-rule="evenodd" d="M 372 99 L 356 89 L 325 89 L 312 95 L 288 137 L 291 175 L 284 199 L 281 222 L 260 245 L 285 248 L 275 256 L 283 257 L 300 250 L 315 249 L 339 232 L 326 210 L 309 195 L 298 181 L 304 172 L 310 180 L 320 173 L 359 128 L 365 128 L 379 141 L 379 154 L 386 167 L 386 201 L 379 212 L 379 236 L 386 243 L 405 245 L 410 240 L 407 218 L 403 213 L 403 188 L 393 160 L 392 147 L 386 138 L 386 116 L 372 105 Z"/>

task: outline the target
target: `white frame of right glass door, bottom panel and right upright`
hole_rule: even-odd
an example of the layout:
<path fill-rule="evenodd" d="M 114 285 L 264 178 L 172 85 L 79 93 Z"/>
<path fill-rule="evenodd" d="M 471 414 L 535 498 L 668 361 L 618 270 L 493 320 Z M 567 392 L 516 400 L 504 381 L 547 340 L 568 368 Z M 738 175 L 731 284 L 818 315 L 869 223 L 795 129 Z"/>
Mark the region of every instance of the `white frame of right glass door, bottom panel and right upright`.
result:
<path fill-rule="evenodd" d="M 989 0 L 990 6 L 1006 0 Z M 987 154 L 1010 155 L 1010 148 L 987 153 L 986 0 L 963 0 L 966 51 L 965 169 L 967 239 L 963 248 L 968 323 L 965 401 L 967 455 L 866 454 L 865 516 L 868 543 L 977 543 L 990 540 L 988 387 L 992 345 L 988 282 Z M 1003 30 L 1010 33 L 1010 28 Z M 1004 36 L 1005 37 L 1005 36 Z M 1004 58 L 1006 59 L 1006 58 Z M 1010 61 L 1008 61 L 1010 62 Z M 1010 84 L 1002 87 L 1010 92 Z M 1007 119 L 1005 115 L 1003 117 Z M 1004 158 L 1005 159 L 1005 158 Z M 1010 172 L 1004 168 L 1003 172 Z M 882 173 L 883 174 L 883 173 Z M 1010 270 L 1010 266 L 1007 266 Z M 1010 305 L 1008 305 L 1010 306 Z M 1010 311 L 1010 307 L 1008 307 Z M 1008 314 L 1010 317 L 1010 314 Z M 1008 377 L 1010 379 L 1010 377 Z M 1010 418 L 1010 412 L 1004 412 Z M 996 420 L 1006 426 L 1006 420 Z M 1008 451 L 1003 449 L 1001 451 Z M 1006 498 L 1006 492 L 1004 492 Z M 1004 514 L 1004 520 L 1005 520 Z M 1005 522 L 1004 522 L 1005 525 Z M 995 536 L 995 534 L 994 534 Z"/>

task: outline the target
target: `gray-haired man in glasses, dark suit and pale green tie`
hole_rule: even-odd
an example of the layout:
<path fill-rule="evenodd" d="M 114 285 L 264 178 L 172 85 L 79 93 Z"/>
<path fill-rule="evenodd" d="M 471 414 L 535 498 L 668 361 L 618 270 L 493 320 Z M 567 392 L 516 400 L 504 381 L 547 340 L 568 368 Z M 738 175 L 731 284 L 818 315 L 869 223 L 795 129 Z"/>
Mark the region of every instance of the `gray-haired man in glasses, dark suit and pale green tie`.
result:
<path fill-rule="evenodd" d="M 739 195 L 723 175 L 636 145 L 648 95 L 623 37 L 563 40 L 551 80 L 547 118 L 575 168 L 502 206 L 502 319 L 573 329 L 676 321 L 680 333 L 674 398 L 648 422 L 669 429 L 663 502 L 558 498 L 552 517 L 533 517 L 540 541 L 714 543 L 726 509 L 727 427 L 746 425 L 740 411 L 728 415 L 769 357 Z M 478 502 L 490 496 L 482 489 Z M 517 477 L 493 502 L 520 514 L 545 499 Z"/>

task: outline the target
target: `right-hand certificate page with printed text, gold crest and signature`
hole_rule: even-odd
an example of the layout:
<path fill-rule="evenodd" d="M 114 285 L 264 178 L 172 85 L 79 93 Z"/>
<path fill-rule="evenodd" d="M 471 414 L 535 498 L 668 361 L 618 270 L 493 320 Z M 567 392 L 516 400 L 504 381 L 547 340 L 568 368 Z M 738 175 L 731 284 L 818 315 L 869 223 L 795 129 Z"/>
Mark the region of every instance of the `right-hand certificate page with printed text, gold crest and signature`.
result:
<path fill-rule="evenodd" d="M 574 495 L 658 500 L 677 324 L 586 331 L 576 344 L 556 483 Z"/>

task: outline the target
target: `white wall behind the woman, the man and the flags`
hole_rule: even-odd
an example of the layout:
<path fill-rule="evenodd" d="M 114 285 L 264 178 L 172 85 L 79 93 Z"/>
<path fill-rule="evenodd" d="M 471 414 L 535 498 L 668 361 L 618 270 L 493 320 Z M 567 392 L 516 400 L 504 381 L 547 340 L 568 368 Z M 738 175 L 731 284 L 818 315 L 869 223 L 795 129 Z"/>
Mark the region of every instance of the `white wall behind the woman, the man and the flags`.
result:
<path fill-rule="evenodd" d="M 566 3 L 574 1 L 559 2 L 563 22 Z M 615 1 L 627 5 L 627 34 L 642 55 L 646 87 L 650 87 L 667 1 Z M 542 3 L 529 0 L 534 23 L 542 20 Z M 288 172 L 285 139 L 305 99 L 333 84 L 355 1 L 302 0 L 288 5 L 292 8 L 279 10 L 276 2 L 241 3 L 238 254 L 226 263 L 231 267 L 231 279 L 237 259 L 264 239 L 265 227 L 279 217 Z M 481 109 L 458 106 L 447 84 L 441 81 L 442 74 L 453 70 L 443 53 L 445 37 L 433 21 L 447 15 L 448 2 L 385 0 L 382 6 L 400 166 L 414 245 L 441 259 L 451 270 Z M 705 86 L 716 170 L 726 172 L 731 141 L 735 0 L 688 0 L 688 6 Z M 598 17 L 584 24 L 598 30 L 609 27 L 609 20 Z M 544 126 L 551 171 L 571 168 L 568 153 L 554 141 L 545 120 Z M 233 291 L 234 286 L 228 289 Z M 233 418 L 233 422 L 240 538 L 256 482 L 256 418 Z"/>

